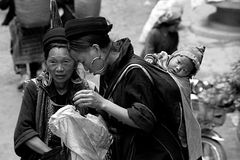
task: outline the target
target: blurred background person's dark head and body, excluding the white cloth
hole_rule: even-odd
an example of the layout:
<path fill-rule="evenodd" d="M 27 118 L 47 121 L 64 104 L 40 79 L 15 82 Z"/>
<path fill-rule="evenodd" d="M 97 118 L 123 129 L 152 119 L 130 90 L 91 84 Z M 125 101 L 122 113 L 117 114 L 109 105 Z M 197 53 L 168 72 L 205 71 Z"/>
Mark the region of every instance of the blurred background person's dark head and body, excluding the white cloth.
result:
<path fill-rule="evenodd" d="M 160 53 L 165 51 L 172 54 L 178 48 L 179 34 L 178 25 L 181 19 L 156 23 L 147 35 L 141 57 L 146 54 Z"/>

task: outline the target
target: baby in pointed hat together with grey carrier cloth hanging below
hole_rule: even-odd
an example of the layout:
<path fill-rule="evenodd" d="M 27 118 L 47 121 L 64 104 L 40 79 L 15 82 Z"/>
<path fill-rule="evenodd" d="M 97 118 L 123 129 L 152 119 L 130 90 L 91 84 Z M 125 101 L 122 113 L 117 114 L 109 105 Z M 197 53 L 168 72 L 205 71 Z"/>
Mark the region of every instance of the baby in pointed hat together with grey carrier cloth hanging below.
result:
<path fill-rule="evenodd" d="M 166 52 L 157 54 L 147 54 L 144 59 L 168 72 L 177 83 L 181 92 L 183 119 L 179 135 L 181 144 L 188 146 L 189 152 L 194 154 L 202 151 L 201 128 L 194 117 L 191 105 L 191 85 L 190 78 L 194 76 L 200 68 L 205 47 L 186 47 L 184 50 L 177 50 L 172 55 Z M 183 138 L 185 137 L 185 138 Z M 196 152 L 197 153 L 197 152 Z"/>

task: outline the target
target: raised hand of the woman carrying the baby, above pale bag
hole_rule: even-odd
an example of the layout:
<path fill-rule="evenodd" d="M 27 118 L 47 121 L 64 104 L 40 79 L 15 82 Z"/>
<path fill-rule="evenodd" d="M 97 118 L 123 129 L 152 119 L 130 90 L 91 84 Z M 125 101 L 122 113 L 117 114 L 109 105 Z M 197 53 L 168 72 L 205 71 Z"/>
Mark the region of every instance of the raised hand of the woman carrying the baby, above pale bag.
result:
<path fill-rule="evenodd" d="M 75 93 L 73 102 L 76 107 L 91 107 L 102 110 L 107 100 L 93 90 L 81 90 Z"/>

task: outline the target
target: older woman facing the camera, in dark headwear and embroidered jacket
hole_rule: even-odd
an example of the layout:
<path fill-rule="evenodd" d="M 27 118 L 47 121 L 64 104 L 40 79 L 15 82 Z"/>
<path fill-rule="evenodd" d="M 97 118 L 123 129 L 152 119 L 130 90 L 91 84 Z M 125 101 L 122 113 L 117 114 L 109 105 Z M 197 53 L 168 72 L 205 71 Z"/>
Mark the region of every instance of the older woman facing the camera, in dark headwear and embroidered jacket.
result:
<path fill-rule="evenodd" d="M 78 76 L 67 44 L 64 28 L 50 29 L 44 36 L 46 71 L 27 83 L 14 134 L 15 152 L 23 160 L 68 157 L 60 138 L 49 130 L 48 120 L 62 106 L 73 104 L 77 91 L 90 87 Z"/>

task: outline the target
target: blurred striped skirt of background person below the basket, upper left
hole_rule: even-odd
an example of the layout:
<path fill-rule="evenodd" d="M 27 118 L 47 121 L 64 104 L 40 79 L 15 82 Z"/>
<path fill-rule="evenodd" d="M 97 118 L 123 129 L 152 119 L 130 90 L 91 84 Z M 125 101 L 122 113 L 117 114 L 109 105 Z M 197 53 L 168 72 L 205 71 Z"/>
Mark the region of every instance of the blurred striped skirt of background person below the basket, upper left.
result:
<path fill-rule="evenodd" d="M 43 62 L 42 37 L 46 28 L 23 28 L 13 20 L 10 24 L 14 64 Z"/>

